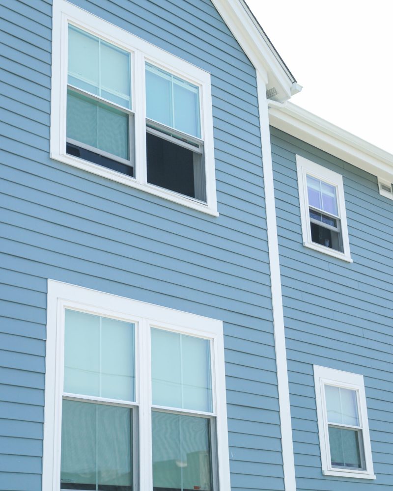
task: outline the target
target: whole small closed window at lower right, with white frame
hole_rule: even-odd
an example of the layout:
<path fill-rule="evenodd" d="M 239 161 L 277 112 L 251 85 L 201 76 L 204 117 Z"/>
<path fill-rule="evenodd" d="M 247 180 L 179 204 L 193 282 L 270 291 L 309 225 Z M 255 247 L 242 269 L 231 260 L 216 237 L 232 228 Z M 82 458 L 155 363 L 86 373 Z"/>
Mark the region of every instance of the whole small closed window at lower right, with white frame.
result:
<path fill-rule="evenodd" d="M 375 479 L 363 376 L 314 365 L 314 378 L 323 473 Z"/>

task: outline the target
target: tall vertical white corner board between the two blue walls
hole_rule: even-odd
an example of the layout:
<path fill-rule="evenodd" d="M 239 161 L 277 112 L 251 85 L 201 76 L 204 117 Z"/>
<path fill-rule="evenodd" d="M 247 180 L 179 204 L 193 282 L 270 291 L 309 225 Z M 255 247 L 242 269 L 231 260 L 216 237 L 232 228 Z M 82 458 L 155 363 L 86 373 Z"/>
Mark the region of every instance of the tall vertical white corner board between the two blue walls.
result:
<path fill-rule="evenodd" d="M 291 409 L 289 403 L 288 368 L 286 362 L 284 312 L 282 307 L 280 256 L 277 235 L 276 204 L 274 198 L 273 164 L 270 145 L 268 101 L 266 85 L 256 73 L 259 117 L 262 142 L 263 178 L 265 190 L 266 224 L 269 247 L 270 281 L 272 288 L 273 324 L 276 349 L 277 381 L 281 421 L 281 446 L 285 491 L 296 491 L 293 456 Z"/>

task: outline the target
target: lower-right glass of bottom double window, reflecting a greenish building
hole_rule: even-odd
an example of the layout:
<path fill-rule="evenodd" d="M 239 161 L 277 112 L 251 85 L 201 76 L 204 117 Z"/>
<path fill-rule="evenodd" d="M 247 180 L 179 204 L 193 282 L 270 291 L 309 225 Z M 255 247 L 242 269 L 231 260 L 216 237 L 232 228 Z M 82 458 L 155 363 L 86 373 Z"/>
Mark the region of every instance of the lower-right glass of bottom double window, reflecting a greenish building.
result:
<path fill-rule="evenodd" d="M 211 491 L 210 421 L 152 412 L 153 491 Z"/>

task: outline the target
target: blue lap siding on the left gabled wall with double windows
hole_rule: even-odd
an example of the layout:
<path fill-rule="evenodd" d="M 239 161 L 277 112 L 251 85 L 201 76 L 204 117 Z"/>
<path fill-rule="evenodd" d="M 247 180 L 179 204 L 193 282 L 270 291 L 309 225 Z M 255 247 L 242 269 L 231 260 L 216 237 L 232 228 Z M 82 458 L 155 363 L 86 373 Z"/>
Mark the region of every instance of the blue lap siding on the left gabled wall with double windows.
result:
<path fill-rule="evenodd" d="M 1 2 L 0 489 L 41 489 L 52 278 L 224 320 L 232 490 L 282 490 L 254 69 L 210 1 L 75 3 L 212 73 L 220 217 L 51 161 L 51 2 Z"/>

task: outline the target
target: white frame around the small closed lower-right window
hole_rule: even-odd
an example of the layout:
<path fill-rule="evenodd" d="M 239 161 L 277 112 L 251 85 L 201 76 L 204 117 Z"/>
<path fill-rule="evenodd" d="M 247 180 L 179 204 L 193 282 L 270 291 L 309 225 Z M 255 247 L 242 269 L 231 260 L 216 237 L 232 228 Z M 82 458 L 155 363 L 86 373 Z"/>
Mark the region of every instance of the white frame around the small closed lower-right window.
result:
<path fill-rule="evenodd" d="M 326 476 L 353 477 L 357 479 L 375 479 L 370 432 L 368 428 L 367 404 L 365 399 L 365 382 L 363 375 L 342 372 L 333 368 L 326 368 L 314 365 L 314 383 L 316 410 L 318 418 L 319 444 L 321 448 L 322 473 Z M 338 469 L 333 467 L 330 458 L 328 416 L 325 399 L 325 385 L 334 385 L 345 389 L 356 390 L 360 426 L 362 428 L 365 470 L 359 469 Z"/>

